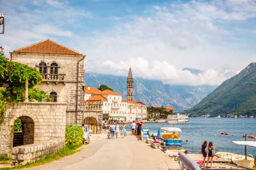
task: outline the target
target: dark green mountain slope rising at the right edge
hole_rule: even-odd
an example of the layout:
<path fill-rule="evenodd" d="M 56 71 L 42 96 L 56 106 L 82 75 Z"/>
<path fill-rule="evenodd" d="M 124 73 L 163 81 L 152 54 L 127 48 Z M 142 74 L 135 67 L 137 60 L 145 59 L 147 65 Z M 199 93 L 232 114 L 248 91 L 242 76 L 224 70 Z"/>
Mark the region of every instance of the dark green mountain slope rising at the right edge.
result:
<path fill-rule="evenodd" d="M 241 114 L 256 116 L 256 63 L 223 82 L 216 90 L 185 111 L 191 116 Z"/>

